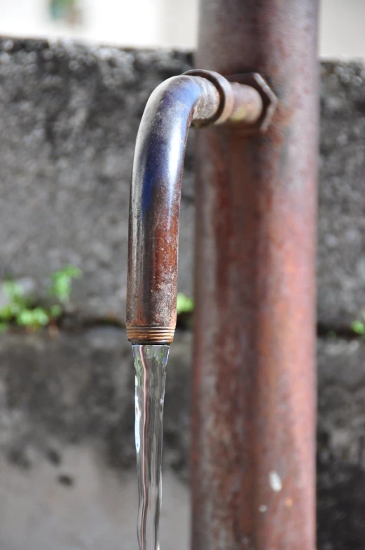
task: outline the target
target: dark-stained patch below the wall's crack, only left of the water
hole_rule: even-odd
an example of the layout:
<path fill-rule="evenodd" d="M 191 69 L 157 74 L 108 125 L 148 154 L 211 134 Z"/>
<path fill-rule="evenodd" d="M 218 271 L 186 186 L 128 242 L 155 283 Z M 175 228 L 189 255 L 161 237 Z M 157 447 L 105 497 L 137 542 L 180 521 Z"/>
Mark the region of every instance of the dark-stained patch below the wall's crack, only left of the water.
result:
<path fill-rule="evenodd" d="M 107 462 L 131 463 L 134 375 L 124 337 L 100 327 L 1 338 L 0 449 L 10 462 L 32 467 L 34 448 L 58 456 L 53 436 L 60 443 L 98 438 Z M 125 431 L 128 445 L 118 445 Z"/>

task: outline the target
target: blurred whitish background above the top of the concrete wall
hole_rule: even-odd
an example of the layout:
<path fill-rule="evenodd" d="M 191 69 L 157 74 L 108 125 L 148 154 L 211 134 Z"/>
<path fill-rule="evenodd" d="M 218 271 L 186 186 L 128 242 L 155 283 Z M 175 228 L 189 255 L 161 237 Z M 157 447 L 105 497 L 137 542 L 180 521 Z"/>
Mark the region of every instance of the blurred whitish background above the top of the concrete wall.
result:
<path fill-rule="evenodd" d="M 198 0 L 2 0 L 0 6 L 3 35 L 195 48 Z M 320 55 L 364 56 L 364 20 L 363 0 L 322 0 Z"/>

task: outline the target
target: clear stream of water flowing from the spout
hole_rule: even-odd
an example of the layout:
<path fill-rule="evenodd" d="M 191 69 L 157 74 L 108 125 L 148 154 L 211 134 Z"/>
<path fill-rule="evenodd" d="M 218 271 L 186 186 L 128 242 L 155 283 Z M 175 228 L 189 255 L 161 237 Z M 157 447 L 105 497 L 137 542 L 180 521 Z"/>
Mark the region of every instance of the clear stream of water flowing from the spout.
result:
<path fill-rule="evenodd" d="M 160 550 L 163 399 L 169 346 L 134 345 L 139 550 Z"/>

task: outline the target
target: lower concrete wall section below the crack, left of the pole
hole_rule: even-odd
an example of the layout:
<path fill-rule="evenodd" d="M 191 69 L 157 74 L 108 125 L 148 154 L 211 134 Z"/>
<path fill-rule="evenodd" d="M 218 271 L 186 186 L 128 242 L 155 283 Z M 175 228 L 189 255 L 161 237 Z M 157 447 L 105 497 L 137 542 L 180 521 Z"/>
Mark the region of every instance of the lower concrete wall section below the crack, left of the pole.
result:
<path fill-rule="evenodd" d="M 188 550 L 190 344 L 190 333 L 178 333 L 167 376 L 165 549 Z M 0 411 L 0 549 L 137 549 L 134 369 L 124 330 L 0 337 Z"/>

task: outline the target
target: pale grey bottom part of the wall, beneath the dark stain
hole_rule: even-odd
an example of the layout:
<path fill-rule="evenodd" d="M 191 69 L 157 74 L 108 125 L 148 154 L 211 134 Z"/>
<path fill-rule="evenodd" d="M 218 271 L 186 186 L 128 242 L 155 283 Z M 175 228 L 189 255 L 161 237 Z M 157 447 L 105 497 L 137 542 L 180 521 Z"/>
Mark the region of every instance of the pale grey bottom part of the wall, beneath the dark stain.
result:
<path fill-rule="evenodd" d="M 69 445 L 61 464 L 37 456 L 25 473 L 0 459 L 1 550 L 137 550 L 137 476 L 104 467 L 90 445 Z M 188 550 L 189 495 L 163 476 L 160 543 Z"/>

